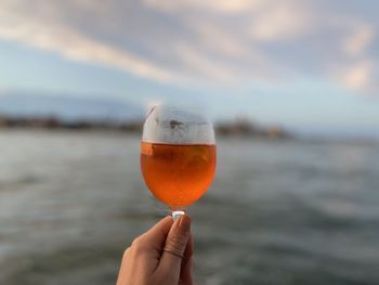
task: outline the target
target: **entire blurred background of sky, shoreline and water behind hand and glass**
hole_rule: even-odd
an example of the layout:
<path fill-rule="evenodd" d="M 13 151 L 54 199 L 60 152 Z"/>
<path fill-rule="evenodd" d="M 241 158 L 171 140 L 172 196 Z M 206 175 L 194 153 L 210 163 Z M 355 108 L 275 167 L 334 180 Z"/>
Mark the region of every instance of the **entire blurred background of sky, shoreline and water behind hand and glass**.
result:
<path fill-rule="evenodd" d="M 167 209 L 148 106 L 207 112 L 198 284 L 378 284 L 376 1 L 0 0 L 0 284 L 115 284 Z"/>

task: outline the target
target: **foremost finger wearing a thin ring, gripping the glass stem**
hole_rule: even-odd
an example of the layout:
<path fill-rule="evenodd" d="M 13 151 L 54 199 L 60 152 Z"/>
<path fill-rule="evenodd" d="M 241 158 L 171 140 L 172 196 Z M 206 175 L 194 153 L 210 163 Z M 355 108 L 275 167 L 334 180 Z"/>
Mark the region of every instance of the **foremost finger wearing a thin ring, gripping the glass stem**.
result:
<path fill-rule="evenodd" d="M 167 235 L 165 249 L 162 251 L 158 271 L 172 280 L 179 282 L 182 259 L 185 247 L 191 236 L 191 219 L 188 216 L 181 216 L 172 225 Z"/>

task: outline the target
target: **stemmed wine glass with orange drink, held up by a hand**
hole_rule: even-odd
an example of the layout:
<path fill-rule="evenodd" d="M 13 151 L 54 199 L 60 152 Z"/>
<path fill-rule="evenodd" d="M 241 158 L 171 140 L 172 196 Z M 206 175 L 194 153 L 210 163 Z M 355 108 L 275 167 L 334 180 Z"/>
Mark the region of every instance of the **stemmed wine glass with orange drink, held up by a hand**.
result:
<path fill-rule="evenodd" d="M 214 177 L 215 140 L 210 120 L 193 111 L 154 106 L 143 127 L 141 171 L 173 219 L 184 215 Z"/>

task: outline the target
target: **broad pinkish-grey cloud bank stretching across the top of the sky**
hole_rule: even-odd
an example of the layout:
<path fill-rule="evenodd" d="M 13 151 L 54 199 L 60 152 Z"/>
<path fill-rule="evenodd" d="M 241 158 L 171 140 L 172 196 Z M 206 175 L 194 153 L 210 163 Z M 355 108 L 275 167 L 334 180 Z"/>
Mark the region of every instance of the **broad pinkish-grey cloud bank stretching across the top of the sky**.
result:
<path fill-rule="evenodd" d="M 368 13 L 375 8 L 316 0 L 0 0 L 0 39 L 161 82 L 295 85 L 301 75 L 375 93 L 379 22 Z"/>

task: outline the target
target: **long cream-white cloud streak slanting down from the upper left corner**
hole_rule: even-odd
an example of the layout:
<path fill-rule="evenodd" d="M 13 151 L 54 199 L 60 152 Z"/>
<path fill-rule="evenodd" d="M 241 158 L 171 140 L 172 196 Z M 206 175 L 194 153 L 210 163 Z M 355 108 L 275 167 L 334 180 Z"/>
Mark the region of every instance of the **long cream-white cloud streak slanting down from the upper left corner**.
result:
<path fill-rule="evenodd" d="M 102 63 L 159 81 L 171 80 L 170 73 L 165 68 L 126 50 L 93 40 L 61 23 L 47 23 L 45 18 L 30 17 L 24 13 L 15 13 L 11 9 L 6 11 L 6 7 L 12 5 L 6 1 L 1 3 L 5 3 L 5 10 L 2 9 L 0 12 L 0 38 L 54 51 L 75 61 Z"/>

